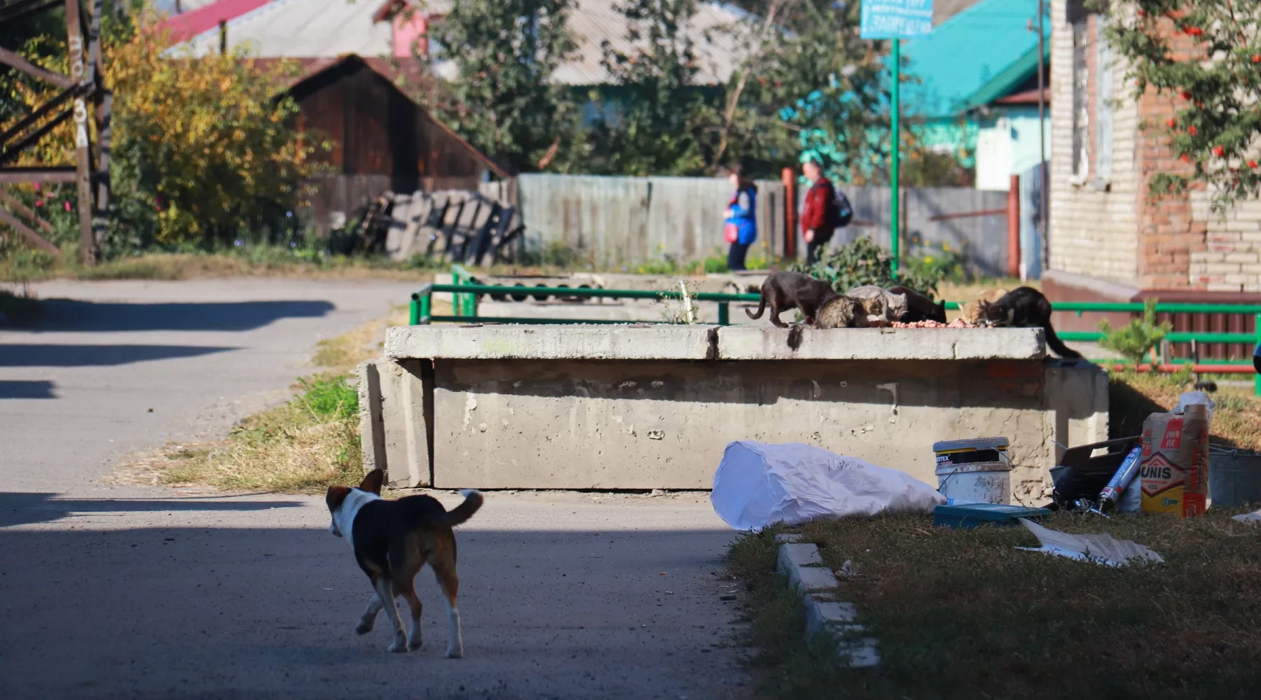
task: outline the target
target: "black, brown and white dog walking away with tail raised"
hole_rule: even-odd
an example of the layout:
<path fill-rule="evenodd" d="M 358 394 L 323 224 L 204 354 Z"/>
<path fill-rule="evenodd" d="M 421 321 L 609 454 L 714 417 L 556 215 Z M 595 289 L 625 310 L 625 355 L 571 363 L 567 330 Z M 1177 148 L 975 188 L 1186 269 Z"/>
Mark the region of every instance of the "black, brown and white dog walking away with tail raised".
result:
<path fill-rule="evenodd" d="M 372 470 L 358 487 L 329 486 L 324 496 L 333 516 L 329 531 L 351 543 L 354 560 L 368 574 L 376 590 L 354 631 L 359 635 L 371 632 L 377 613 L 385 608 L 395 633 L 388 651 L 420 648 L 421 607 L 414 579 L 429 562 L 446 597 L 450 624 L 446 657 L 460 658 L 464 656 L 464 641 L 460 638 L 460 612 L 455 607 L 460 580 L 455 575 L 455 534 L 451 528 L 473 517 L 482 507 L 482 494 L 462 491 L 464 502 L 448 512 L 430 496 L 406 496 L 397 501 L 382 499 L 385 477 L 386 472 Z M 411 608 L 411 632 L 406 637 L 395 606 L 397 596 L 406 598 Z"/>

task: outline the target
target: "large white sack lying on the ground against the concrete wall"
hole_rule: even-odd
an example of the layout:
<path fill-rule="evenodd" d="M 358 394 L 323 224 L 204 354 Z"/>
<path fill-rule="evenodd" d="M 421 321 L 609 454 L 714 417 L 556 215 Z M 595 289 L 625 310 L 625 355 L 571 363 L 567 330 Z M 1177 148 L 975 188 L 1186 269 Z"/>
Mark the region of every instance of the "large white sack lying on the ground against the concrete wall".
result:
<path fill-rule="evenodd" d="M 783 520 L 932 512 L 946 497 L 909 475 L 797 442 L 726 446 L 710 492 L 714 511 L 736 530 Z"/>

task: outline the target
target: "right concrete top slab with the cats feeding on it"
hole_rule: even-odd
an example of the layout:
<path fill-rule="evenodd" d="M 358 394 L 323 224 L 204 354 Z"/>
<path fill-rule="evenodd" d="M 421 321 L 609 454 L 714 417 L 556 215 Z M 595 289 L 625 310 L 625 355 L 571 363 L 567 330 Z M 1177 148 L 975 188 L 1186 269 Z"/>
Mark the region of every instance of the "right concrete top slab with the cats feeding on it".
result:
<path fill-rule="evenodd" d="M 721 360 L 1039 360 L 1042 329 L 789 329 L 726 326 L 718 331 Z"/>

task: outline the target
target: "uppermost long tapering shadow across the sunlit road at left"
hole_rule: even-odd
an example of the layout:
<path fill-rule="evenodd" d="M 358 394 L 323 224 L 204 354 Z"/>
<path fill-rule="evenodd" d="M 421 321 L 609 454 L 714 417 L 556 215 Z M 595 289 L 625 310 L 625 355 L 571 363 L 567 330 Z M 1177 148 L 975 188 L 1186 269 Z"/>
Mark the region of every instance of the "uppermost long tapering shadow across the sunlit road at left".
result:
<path fill-rule="evenodd" d="M 247 331 L 280 319 L 311 319 L 333 311 L 323 300 L 129 303 L 64 298 L 42 303 L 34 331 Z"/>

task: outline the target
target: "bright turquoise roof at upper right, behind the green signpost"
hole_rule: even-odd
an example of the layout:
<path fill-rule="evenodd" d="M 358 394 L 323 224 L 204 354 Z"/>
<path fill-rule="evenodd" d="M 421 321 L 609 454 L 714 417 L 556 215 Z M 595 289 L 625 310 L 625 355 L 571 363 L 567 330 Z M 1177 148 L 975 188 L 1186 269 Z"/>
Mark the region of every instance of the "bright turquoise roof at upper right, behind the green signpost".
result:
<path fill-rule="evenodd" d="M 1038 0 L 981 0 L 928 37 L 905 42 L 904 72 L 922 81 L 903 86 L 907 110 L 947 117 L 1016 88 L 1038 67 L 1037 19 Z M 1050 21 L 1044 29 L 1049 38 Z M 1044 50 L 1049 55 L 1049 40 Z"/>

